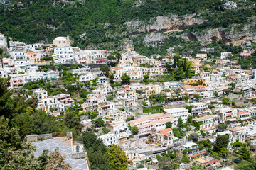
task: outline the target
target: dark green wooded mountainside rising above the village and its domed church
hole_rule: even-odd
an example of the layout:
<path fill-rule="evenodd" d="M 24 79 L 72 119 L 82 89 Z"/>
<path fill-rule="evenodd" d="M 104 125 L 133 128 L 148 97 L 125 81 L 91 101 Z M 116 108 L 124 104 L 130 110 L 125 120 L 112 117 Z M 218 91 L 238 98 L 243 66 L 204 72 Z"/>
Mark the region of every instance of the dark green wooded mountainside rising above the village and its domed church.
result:
<path fill-rule="evenodd" d="M 231 27 L 234 27 L 237 33 L 246 24 L 251 24 L 250 31 L 254 33 L 256 27 L 256 8 L 252 0 L 236 1 L 238 8 L 228 10 L 223 8 L 225 1 L 221 0 L 75 0 L 65 3 L 24 0 L 23 6 L 16 6 L 16 1 L 12 2 L 12 7 L 1 6 L 0 33 L 27 43 L 51 42 L 57 36 L 70 35 L 71 40 L 74 40 L 73 45 L 78 47 L 113 50 L 129 39 L 136 50 L 146 47 L 142 52 L 150 49 L 159 51 L 156 45 L 143 42 L 148 32 L 161 34 L 161 38 L 155 41 L 161 44 L 159 47 L 165 43 L 166 49 L 170 40 L 180 42 L 177 37 L 186 39 L 187 33 L 196 36 L 193 40 L 201 40 L 202 30 L 221 28 L 224 33 L 230 33 Z M 145 30 L 144 27 L 148 25 L 157 27 L 159 23 L 156 23 L 156 16 L 167 16 L 170 21 L 181 23 L 193 13 L 196 16 L 192 17 L 193 21 L 188 21 L 191 23 L 189 26 L 182 26 L 182 23 L 175 29 L 170 29 L 171 33 L 166 33 L 168 31 L 161 29 L 161 26 L 159 30 L 140 31 Z M 194 23 L 195 20 L 198 22 Z M 136 21 L 135 29 L 139 29 L 139 35 L 132 34 L 127 21 L 132 21 L 134 28 Z M 233 42 L 232 38 L 229 39 L 226 42 Z"/>

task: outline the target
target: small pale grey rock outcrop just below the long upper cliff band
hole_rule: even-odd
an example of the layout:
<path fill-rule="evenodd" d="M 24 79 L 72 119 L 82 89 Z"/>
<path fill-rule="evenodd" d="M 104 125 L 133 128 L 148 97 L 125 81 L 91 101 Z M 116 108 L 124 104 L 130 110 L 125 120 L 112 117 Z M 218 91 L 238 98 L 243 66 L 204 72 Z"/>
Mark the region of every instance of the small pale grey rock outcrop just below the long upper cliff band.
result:
<path fill-rule="evenodd" d="M 167 38 L 164 33 L 149 33 L 145 36 L 143 43 L 146 46 L 157 47 L 165 38 Z"/>

